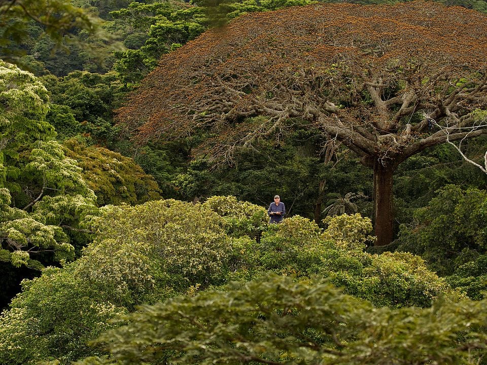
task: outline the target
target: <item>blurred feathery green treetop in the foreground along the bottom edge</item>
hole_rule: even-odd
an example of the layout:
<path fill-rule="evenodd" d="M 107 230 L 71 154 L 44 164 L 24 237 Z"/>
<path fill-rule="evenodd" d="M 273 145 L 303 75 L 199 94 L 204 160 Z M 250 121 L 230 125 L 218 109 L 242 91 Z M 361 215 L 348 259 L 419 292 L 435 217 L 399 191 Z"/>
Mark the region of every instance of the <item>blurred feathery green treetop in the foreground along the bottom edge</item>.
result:
<path fill-rule="evenodd" d="M 374 308 L 320 278 L 270 275 L 145 306 L 99 341 L 122 363 L 473 364 L 486 306 Z"/>

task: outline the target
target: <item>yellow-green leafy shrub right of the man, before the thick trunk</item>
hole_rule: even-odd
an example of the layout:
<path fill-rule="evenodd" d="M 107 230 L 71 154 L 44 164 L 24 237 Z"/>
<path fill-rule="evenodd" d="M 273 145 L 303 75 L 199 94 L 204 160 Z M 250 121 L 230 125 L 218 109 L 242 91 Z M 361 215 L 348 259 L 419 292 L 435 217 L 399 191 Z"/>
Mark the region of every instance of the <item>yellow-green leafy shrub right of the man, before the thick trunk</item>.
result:
<path fill-rule="evenodd" d="M 343 287 L 347 294 L 367 299 L 377 306 L 428 307 L 447 294 L 462 295 L 426 267 L 418 256 L 402 252 L 369 254 L 362 251 L 370 240 L 372 226 L 360 214 L 335 216 L 321 229 L 306 218 L 293 216 L 270 225 L 252 251 L 256 266 L 248 275 L 237 270 L 231 278 L 253 278 L 268 270 L 281 274 L 321 274 Z M 336 237 L 336 238 L 335 238 Z"/>

